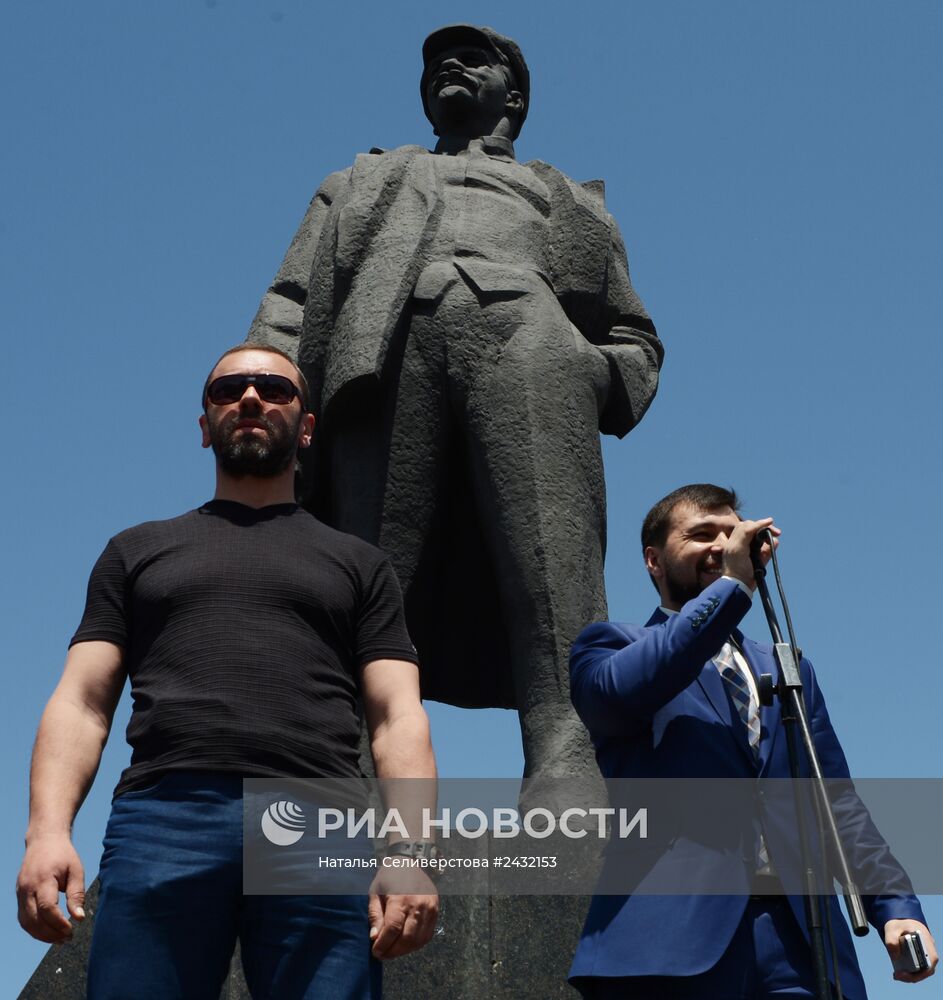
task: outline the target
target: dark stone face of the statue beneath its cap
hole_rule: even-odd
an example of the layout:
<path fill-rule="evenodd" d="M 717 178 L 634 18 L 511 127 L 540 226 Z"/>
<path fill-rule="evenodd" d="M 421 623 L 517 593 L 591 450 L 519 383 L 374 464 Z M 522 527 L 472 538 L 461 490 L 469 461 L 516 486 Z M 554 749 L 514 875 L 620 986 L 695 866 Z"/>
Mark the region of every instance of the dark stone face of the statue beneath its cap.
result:
<path fill-rule="evenodd" d="M 427 73 L 426 102 L 440 132 L 454 120 L 496 122 L 509 110 L 512 95 L 520 97 L 498 56 L 476 45 L 444 49 Z M 516 107 L 512 102 L 512 110 Z"/>

